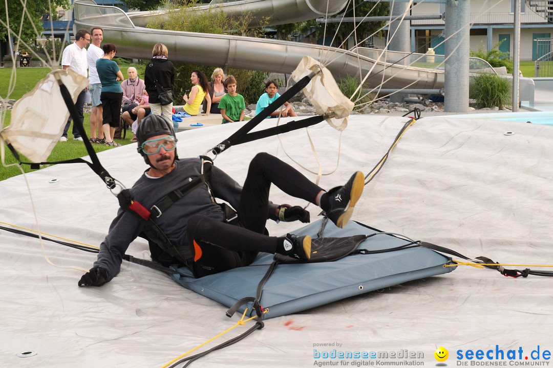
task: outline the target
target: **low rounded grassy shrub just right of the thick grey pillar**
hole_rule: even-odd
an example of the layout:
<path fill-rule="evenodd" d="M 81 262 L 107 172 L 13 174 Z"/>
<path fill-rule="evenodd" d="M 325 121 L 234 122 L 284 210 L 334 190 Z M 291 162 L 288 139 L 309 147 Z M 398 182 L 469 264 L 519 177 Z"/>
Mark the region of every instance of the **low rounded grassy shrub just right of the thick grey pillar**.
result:
<path fill-rule="evenodd" d="M 472 78 L 469 96 L 476 101 L 476 108 L 503 109 L 511 104 L 511 83 L 497 74 L 477 74 Z"/>

